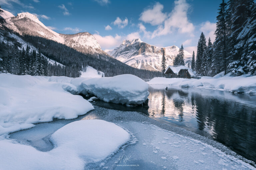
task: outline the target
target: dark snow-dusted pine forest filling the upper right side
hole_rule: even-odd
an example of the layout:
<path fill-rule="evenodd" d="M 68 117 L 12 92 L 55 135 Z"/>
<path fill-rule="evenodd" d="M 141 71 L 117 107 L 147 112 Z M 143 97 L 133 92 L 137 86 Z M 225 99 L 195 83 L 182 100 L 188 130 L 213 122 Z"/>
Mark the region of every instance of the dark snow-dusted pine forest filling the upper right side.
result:
<path fill-rule="evenodd" d="M 256 4 L 253 0 L 223 1 L 216 19 L 216 39 L 212 44 L 209 38 L 206 45 L 201 34 L 191 69 L 202 76 L 222 71 L 256 75 Z"/>

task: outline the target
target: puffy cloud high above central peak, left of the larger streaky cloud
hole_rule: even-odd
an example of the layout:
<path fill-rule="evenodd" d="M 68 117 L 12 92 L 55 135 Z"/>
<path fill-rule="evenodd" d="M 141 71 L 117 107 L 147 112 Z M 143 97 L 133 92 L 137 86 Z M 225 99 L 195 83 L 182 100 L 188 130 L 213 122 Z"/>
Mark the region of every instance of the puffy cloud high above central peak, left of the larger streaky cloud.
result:
<path fill-rule="evenodd" d="M 163 13 L 164 6 L 157 2 L 153 8 L 144 10 L 141 15 L 139 20 L 145 22 L 145 23 L 150 23 L 151 25 L 159 25 L 162 24 L 163 21 L 167 18 L 167 15 Z"/>

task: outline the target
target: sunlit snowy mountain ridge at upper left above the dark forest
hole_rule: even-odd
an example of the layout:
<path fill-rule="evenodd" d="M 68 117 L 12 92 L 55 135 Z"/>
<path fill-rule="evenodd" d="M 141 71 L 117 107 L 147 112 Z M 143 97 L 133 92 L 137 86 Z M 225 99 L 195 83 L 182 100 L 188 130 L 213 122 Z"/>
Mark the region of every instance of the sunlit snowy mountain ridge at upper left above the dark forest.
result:
<path fill-rule="evenodd" d="M 53 40 L 81 52 L 103 52 L 97 40 L 90 33 L 72 35 L 59 34 L 46 27 L 39 19 L 28 12 L 19 13 L 17 16 L 3 10 L 0 14 L 7 22 L 7 27 L 20 35 L 31 35 Z"/>

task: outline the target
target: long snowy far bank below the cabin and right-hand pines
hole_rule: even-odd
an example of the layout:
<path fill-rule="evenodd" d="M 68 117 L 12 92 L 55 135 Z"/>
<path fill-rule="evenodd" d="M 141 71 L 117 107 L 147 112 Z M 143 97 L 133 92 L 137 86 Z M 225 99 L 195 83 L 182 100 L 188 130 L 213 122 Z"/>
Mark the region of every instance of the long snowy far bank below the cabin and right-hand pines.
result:
<path fill-rule="evenodd" d="M 256 94 L 256 76 L 204 76 L 201 79 L 156 77 L 148 81 L 147 83 L 149 85 L 166 84 L 169 86 L 211 88 L 225 90 L 229 92 Z"/>

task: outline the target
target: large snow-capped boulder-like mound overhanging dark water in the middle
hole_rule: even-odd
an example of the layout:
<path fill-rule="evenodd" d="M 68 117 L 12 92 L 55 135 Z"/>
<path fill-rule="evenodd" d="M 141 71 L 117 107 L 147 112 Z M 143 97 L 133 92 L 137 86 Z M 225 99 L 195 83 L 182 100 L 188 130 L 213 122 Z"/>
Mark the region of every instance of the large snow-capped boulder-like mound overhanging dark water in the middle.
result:
<path fill-rule="evenodd" d="M 100 100 L 117 104 L 143 104 L 149 95 L 148 84 L 131 74 L 101 78 L 79 77 L 72 80 L 71 84 L 84 95 L 90 93 Z"/>

